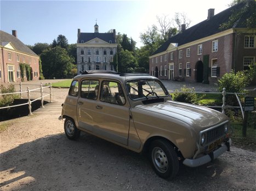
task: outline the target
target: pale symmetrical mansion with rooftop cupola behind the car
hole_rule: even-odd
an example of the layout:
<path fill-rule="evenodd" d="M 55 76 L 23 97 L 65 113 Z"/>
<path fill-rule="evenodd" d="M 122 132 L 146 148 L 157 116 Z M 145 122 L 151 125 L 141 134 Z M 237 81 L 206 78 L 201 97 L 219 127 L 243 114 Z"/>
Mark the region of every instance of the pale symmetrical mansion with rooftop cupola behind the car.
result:
<path fill-rule="evenodd" d="M 114 70 L 113 56 L 117 53 L 116 30 L 99 33 L 94 25 L 94 33 L 77 33 L 77 74 L 84 70 Z"/>

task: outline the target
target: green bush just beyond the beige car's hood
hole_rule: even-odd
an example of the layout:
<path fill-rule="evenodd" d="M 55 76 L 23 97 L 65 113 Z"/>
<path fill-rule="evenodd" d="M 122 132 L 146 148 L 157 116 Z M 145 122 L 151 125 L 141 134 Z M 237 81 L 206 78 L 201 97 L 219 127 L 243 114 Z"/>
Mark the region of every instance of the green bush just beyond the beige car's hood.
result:
<path fill-rule="evenodd" d="M 193 93 L 187 93 L 187 92 L 193 92 Z M 195 88 L 186 88 L 184 85 L 180 88 L 180 91 L 178 89 L 175 89 L 175 92 L 173 94 L 173 100 L 177 102 L 184 102 L 184 103 L 190 103 L 190 104 L 199 104 L 200 100 L 205 96 L 205 94 L 201 94 L 198 96 L 198 94 L 194 93 Z"/>

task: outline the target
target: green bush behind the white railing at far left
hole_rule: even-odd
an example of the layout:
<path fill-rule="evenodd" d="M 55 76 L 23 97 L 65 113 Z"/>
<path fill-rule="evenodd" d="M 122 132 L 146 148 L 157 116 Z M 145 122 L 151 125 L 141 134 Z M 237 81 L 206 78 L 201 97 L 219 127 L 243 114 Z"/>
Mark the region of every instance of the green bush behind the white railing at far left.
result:
<path fill-rule="evenodd" d="M 0 86 L 1 93 L 13 93 L 16 92 L 14 85 L 9 85 L 8 87 L 4 87 L 3 85 Z M 12 105 L 14 99 L 18 99 L 19 95 L 18 94 L 7 94 L 7 95 L 2 95 L 0 97 L 0 108 L 6 107 L 9 105 Z"/>

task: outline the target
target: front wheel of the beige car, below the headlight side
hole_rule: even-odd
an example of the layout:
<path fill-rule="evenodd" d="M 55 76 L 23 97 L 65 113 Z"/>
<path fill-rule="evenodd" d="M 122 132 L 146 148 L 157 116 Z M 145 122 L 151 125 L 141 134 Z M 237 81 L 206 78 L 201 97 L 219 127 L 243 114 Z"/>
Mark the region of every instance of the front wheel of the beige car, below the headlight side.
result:
<path fill-rule="evenodd" d="M 179 160 L 172 144 L 167 140 L 154 140 L 150 144 L 149 158 L 156 174 L 162 178 L 175 177 Z"/>

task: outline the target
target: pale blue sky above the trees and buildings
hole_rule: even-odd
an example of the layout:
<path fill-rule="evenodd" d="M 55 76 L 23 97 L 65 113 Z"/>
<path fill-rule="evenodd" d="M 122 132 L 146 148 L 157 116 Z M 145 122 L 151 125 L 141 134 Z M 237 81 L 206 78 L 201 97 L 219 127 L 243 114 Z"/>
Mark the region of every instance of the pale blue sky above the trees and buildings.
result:
<path fill-rule="evenodd" d="M 95 20 L 99 32 L 116 29 L 132 37 L 141 46 L 140 33 L 147 27 L 158 25 L 156 16 L 185 13 L 190 26 L 207 19 L 208 9 L 215 14 L 227 8 L 231 0 L 144 0 L 144 1 L 2 1 L 1 30 L 12 34 L 27 45 L 52 43 L 59 34 L 70 44 L 76 43 L 77 29 L 94 32 Z"/>

